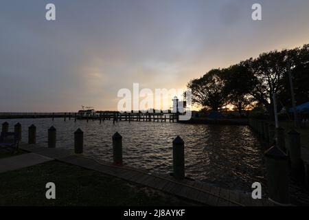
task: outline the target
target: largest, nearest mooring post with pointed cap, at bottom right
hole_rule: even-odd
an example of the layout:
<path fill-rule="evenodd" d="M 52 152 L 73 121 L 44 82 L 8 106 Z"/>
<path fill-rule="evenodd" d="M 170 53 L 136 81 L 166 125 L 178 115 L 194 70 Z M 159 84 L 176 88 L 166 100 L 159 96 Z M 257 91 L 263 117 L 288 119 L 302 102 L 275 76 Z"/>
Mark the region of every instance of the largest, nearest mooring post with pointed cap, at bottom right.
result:
<path fill-rule="evenodd" d="M 269 199 L 277 205 L 290 204 L 288 194 L 288 156 L 277 146 L 265 153 Z"/>

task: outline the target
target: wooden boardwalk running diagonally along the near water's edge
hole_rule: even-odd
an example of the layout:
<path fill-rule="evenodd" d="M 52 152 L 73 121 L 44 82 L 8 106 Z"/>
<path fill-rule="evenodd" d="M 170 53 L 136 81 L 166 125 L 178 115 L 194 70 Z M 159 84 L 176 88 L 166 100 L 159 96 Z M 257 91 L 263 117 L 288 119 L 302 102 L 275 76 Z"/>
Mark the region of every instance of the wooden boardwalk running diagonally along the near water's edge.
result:
<path fill-rule="evenodd" d="M 20 148 L 45 157 L 52 157 L 60 162 L 96 170 L 135 184 L 155 188 L 162 192 L 190 199 L 207 206 L 273 206 L 273 203 L 268 201 L 267 198 L 252 199 L 251 194 L 227 190 L 201 181 L 189 179 L 177 181 L 169 175 L 153 174 L 149 173 L 148 170 L 128 166 L 113 166 L 111 163 L 98 159 L 75 155 L 73 150 L 47 148 L 39 144 L 21 144 Z"/>

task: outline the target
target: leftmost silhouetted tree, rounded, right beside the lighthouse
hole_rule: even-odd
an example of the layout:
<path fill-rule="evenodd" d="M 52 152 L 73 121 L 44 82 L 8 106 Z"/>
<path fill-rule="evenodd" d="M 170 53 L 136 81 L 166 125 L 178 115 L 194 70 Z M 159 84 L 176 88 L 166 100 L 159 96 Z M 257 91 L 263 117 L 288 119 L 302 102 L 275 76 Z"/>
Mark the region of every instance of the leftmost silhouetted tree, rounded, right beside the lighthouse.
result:
<path fill-rule="evenodd" d="M 225 80 L 222 70 L 211 69 L 201 78 L 191 80 L 187 87 L 192 90 L 192 103 L 218 111 L 227 104 Z"/>

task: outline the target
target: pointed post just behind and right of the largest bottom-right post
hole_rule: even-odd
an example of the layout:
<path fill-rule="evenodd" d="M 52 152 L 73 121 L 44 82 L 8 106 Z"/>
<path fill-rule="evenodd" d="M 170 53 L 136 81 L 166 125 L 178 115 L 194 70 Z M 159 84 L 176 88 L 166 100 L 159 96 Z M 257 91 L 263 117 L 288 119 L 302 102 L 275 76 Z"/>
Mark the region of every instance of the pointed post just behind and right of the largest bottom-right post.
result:
<path fill-rule="evenodd" d="M 301 159 L 301 144 L 300 144 L 300 133 L 292 129 L 288 133 L 288 152 L 290 156 L 290 163 L 292 168 L 300 169 L 303 166 Z"/>

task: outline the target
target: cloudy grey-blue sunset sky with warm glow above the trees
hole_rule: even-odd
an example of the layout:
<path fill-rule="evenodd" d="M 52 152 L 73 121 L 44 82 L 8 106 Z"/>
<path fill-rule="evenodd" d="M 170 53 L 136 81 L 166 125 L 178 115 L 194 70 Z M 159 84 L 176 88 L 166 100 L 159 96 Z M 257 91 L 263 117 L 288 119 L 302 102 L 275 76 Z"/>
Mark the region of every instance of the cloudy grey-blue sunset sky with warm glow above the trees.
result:
<path fill-rule="evenodd" d="M 133 83 L 185 89 L 212 68 L 309 43 L 308 21 L 309 0 L 1 0 L 0 111 L 115 110 Z"/>

